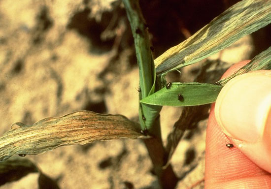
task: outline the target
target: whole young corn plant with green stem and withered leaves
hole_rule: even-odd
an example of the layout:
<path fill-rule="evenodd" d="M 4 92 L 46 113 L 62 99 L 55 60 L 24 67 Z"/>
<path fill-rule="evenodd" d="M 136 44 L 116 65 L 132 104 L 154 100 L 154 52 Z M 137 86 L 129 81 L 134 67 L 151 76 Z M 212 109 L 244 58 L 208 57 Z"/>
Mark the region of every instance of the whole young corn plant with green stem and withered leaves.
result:
<path fill-rule="evenodd" d="M 167 83 L 170 71 L 197 63 L 241 37 L 271 23 L 270 0 L 242 0 L 233 5 L 187 40 L 170 48 L 153 60 L 149 34 L 140 7 L 135 0 L 123 0 L 130 21 L 137 64 L 139 67 L 139 123 L 122 115 L 102 115 L 91 111 L 77 111 L 58 118 L 45 118 L 31 126 L 15 123 L 0 137 L 0 174 L 7 165 L 29 166 L 29 161 L 8 161 L 18 155 L 38 155 L 57 147 L 86 144 L 95 140 L 119 138 L 142 139 L 152 160 L 155 174 L 163 189 L 173 189 L 178 178 L 170 165 L 170 158 L 183 132 L 196 122 L 196 114 L 215 102 L 223 86 L 233 77 L 252 70 L 271 69 L 271 47 L 255 56 L 250 63 L 233 75 L 214 84 L 198 77 L 192 83 Z M 203 75 L 205 74 L 203 70 Z M 167 144 L 161 139 L 159 113 L 163 106 L 185 106 L 179 120 L 169 133 Z M 5 181 L 4 181 L 5 182 Z"/>

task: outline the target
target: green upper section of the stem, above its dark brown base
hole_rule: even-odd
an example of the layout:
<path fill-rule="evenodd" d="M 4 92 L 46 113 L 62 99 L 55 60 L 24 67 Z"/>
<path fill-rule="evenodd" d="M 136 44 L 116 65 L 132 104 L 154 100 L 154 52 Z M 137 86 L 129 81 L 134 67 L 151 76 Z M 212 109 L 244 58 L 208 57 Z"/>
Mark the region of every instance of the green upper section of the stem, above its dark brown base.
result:
<path fill-rule="evenodd" d="M 141 14 L 139 4 L 136 0 L 123 0 L 127 16 L 130 21 L 134 42 L 137 64 L 139 67 L 139 85 L 141 92 L 139 100 L 154 93 L 155 90 L 155 69 L 150 50 L 150 42 L 146 29 L 145 20 Z M 139 121 L 141 129 L 148 129 L 149 133 L 159 137 L 160 130 L 153 129 L 154 122 L 159 115 L 161 107 L 139 104 Z"/>

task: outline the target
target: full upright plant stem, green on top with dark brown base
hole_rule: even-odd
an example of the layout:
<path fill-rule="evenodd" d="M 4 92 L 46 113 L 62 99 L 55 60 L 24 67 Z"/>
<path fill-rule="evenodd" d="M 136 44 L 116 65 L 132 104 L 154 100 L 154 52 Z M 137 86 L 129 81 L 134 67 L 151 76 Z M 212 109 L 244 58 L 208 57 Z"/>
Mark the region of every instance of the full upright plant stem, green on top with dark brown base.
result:
<path fill-rule="evenodd" d="M 139 100 L 155 92 L 156 74 L 145 20 L 137 0 L 123 0 L 130 21 L 134 41 L 137 64 L 139 67 Z M 163 189 L 174 189 L 177 183 L 172 167 L 165 165 L 165 148 L 161 139 L 159 112 L 161 106 L 139 104 L 139 121 L 142 130 L 147 129 L 153 138 L 144 140 L 149 156 L 153 162 L 155 174 Z"/>

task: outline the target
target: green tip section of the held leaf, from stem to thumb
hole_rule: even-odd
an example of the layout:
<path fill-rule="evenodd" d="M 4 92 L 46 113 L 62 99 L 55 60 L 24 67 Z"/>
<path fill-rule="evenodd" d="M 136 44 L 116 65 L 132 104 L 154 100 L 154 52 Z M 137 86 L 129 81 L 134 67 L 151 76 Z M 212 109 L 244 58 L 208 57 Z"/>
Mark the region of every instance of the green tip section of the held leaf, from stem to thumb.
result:
<path fill-rule="evenodd" d="M 160 106 L 195 106 L 215 102 L 222 86 L 207 83 L 174 82 L 140 102 Z"/>

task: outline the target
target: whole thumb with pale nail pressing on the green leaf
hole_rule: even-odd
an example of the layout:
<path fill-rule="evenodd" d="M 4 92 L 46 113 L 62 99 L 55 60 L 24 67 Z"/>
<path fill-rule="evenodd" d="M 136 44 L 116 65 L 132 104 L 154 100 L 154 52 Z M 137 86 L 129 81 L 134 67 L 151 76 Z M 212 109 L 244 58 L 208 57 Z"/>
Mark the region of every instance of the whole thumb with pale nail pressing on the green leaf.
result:
<path fill-rule="evenodd" d="M 215 118 L 243 154 L 271 173 L 270 70 L 230 80 L 217 97 Z"/>

